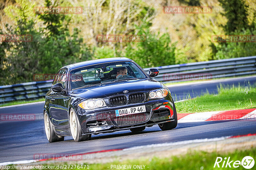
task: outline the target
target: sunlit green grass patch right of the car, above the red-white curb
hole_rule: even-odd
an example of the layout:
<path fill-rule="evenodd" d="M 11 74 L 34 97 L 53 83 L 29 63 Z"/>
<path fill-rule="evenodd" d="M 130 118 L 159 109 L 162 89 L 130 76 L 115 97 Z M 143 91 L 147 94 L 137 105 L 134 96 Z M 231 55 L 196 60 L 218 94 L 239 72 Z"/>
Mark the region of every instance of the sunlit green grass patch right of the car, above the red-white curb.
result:
<path fill-rule="evenodd" d="M 177 113 L 256 108 L 256 87 L 250 84 L 245 87 L 220 84 L 217 95 L 206 93 L 193 99 L 189 95 L 185 97 L 189 100 L 175 104 Z"/>

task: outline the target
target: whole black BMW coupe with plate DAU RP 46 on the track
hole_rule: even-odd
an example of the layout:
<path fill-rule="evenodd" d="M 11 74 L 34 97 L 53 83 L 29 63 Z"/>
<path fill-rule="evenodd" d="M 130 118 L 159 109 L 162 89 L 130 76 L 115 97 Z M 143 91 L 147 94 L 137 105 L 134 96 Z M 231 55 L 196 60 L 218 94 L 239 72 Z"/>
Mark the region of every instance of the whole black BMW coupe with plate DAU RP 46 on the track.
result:
<path fill-rule="evenodd" d="M 158 124 L 177 126 L 171 92 L 128 58 L 90 60 L 60 68 L 45 96 L 44 126 L 49 142 L 72 136 L 76 142 L 92 134 Z"/>

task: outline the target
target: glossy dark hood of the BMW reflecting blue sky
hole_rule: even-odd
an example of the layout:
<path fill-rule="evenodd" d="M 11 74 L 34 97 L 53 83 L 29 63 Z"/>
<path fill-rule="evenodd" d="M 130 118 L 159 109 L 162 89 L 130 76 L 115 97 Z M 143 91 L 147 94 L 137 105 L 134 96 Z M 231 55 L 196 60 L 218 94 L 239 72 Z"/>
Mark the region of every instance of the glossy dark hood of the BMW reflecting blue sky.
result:
<path fill-rule="evenodd" d="M 162 84 L 152 79 L 123 80 L 73 90 L 70 95 L 91 98 L 107 98 L 116 95 L 131 94 L 134 92 L 149 92 L 161 88 Z M 123 91 L 127 90 L 128 93 Z"/>

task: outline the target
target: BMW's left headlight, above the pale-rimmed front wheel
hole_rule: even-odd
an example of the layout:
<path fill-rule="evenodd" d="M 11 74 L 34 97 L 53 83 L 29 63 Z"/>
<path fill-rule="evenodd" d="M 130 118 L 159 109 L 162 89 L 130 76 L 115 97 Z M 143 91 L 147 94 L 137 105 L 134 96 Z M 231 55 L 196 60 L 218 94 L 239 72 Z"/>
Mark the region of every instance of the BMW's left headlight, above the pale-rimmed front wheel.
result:
<path fill-rule="evenodd" d="M 106 106 L 106 103 L 103 99 L 92 99 L 92 100 L 85 100 L 78 104 L 79 107 L 86 110 L 92 110 L 100 107 Z"/>

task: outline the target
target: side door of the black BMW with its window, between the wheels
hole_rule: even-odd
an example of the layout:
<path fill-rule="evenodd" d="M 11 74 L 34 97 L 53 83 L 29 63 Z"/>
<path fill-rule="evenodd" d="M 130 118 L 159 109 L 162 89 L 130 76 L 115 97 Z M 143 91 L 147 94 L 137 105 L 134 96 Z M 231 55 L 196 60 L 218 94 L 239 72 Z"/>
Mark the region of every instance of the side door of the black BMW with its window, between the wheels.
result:
<path fill-rule="evenodd" d="M 52 85 L 61 83 L 62 86 L 66 89 L 66 91 L 54 92 L 51 90 L 51 94 L 49 95 L 50 103 L 49 103 L 49 112 L 51 114 L 52 124 L 60 129 L 68 129 L 69 128 L 69 120 L 68 120 L 68 99 L 67 96 L 67 73 L 64 69 L 61 69 L 58 77 L 52 83 Z"/>

